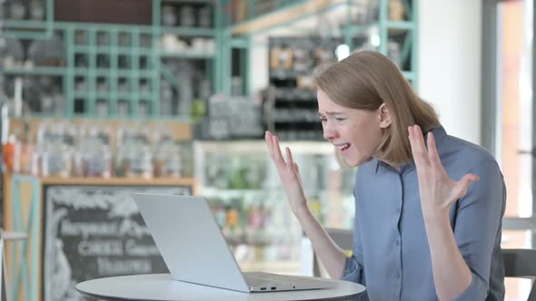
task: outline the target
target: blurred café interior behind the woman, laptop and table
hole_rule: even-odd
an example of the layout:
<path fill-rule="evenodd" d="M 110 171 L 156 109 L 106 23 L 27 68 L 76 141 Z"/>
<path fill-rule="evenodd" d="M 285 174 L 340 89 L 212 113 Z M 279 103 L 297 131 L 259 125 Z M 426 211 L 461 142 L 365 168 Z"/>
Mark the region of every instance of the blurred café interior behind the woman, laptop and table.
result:
<path fill-rule="evenodd" d="M 293 150 L 323 225 L 352 228 L 356 170 L 323 141 L 312 74 L 365 49 L 494 154 L 502 247 L 532 248 L 533 13 L 531 0 L 0 0 L 0 218 L 26 236 L 5 243 L 10 300 L 84 300 L 81 281 L 167 272 L 133 191 L 203 195 L 243 270 L 313 275 L 263 132 Z M 530 289 L 508 279 L 506 299 Z"/>

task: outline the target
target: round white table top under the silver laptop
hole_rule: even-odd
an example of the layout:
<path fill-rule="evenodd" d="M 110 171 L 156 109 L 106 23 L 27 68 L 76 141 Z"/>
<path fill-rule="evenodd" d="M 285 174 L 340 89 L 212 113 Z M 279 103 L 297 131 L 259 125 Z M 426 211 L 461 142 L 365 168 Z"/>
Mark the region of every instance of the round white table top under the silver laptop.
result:
<path fill-rule="evenodd" d="M 243 293 L 213 286 L 202 286 L 174 280 L 170 274 L 147 274 L 105 277 L 88 280 L 76 285 L 84 296 L 104 300 L 221 300 L 221 301 L 290 301 L 290 300 L 352 300 L 365 291 L 365 287 L 353 282 L 328 279 L 335 286 L 288 292 Z"/>

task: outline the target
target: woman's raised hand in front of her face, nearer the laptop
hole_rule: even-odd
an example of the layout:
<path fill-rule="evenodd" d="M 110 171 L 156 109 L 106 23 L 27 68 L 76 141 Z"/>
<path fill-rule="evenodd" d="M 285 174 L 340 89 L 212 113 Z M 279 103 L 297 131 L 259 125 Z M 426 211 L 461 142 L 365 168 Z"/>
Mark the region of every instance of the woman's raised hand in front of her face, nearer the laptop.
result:
<path fill-rule="evenodd" d="M 268 146 L 270 158 L 272 158 L 273 163 L 275 163 L 279 178 L 283 182 L 283 188 L 289 199 L 289 204 L 291 205 L 294 215 L 298 216 L 303 212 L 306 212 L 309 208 L 307 207 L 307 200 L 305 199 L 302 178 L 300 178 L 298 165 L 293 161 L 291 150 L 285 148 L 285 160 L 281 153 L 277 136 L 273 135 L 271 131 L 266 131 L 264 140 Z"/>

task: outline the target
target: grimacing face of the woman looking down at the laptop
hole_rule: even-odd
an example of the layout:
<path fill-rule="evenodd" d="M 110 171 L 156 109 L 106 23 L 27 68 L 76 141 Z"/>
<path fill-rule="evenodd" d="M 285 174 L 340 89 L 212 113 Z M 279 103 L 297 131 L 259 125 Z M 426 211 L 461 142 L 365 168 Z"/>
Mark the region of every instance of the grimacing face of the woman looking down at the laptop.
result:
<path fill-rule="evenodd" d="M 342 107 L 322 90 L 317 92 L 318 115 L 323 138 L 330 141 L 350 166 L 358 166 L 374 155 L 382 140 L 382 107 L 365 111 Z"/>

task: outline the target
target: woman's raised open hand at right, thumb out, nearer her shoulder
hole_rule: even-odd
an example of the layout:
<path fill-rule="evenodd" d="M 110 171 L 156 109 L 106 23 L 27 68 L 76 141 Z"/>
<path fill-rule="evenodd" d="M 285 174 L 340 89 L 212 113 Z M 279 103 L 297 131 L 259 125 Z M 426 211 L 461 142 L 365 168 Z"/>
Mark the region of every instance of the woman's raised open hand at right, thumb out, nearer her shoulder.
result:
<path fill-rule="evenodd" d="M 422 215 L 424 218 L 437 214 L 448 216 L 452 203 L 465 196 L 471 183 L 480 179 L 477 175 L 466 174 L 459 181 L 452 180 L 442 166 L 432 131 L 428 132 L 428 150 L 421 127 L 413 125 L 408 131 L 419 179 Z"/>

